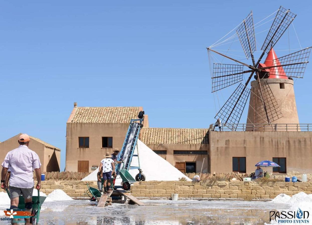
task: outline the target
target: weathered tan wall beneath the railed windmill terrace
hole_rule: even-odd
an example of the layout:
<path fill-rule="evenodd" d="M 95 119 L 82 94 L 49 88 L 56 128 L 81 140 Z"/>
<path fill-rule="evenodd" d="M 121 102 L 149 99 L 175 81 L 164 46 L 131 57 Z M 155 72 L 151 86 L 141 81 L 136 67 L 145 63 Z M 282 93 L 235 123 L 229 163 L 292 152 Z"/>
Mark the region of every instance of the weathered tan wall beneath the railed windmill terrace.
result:
<path fill-rule="evenodd" d="M 246 172 L 273 157 L 286 157 L 286 172 L 312 172 L 312 132 L 214 131 L 209 143 L 212 172 L 232 172 L 232 157 L 246 157 Z"/>

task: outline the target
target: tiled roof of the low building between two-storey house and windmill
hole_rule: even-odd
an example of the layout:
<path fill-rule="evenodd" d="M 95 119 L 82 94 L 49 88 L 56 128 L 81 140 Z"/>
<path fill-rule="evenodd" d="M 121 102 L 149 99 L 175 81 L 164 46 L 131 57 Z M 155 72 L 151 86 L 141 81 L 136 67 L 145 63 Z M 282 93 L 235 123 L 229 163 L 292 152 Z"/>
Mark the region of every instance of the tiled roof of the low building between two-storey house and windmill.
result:
<path fill-rule="evenodd" d="M 143 128 L 145 144 L 208 144 L 208 129 Z"/>

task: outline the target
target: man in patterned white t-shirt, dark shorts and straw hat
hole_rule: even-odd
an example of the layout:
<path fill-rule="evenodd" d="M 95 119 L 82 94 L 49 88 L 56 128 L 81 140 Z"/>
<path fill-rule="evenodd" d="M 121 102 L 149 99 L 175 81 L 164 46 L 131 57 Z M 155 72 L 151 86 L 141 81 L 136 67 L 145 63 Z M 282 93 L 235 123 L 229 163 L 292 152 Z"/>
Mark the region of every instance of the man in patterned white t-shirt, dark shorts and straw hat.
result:
<path fill-rule="evenodd" d="M 112 179 L 112 172 L 113 175 L 115 173 L 115 163 L 114 160 L 111 159 L 111 155 L 109 152 L 106 153 L 104 156 L 105 158 L 102 159 L 99 169 L 103 167 L 103 187 L 104 193 L 107 193 L 110 189 L 110 180 Z"/>

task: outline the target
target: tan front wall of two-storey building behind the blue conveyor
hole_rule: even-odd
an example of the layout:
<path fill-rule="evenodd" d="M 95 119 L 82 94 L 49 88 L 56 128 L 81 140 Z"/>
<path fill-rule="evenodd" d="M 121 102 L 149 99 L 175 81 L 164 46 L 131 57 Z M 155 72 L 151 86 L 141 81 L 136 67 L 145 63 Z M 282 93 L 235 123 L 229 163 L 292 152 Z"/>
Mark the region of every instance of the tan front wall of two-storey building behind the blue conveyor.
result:
<path fill-rule="evenodd" d="M 99 166 L 106 152 L 122 148 L 129 123 L 67 123 L 66 124 L 66 171 L 78 171 L 78 160 Z M 79 148 L 78 137 L 89 137 L 89 148 Z M 102 137 L 113 137 L 113 148 L 102 148 Z"/>

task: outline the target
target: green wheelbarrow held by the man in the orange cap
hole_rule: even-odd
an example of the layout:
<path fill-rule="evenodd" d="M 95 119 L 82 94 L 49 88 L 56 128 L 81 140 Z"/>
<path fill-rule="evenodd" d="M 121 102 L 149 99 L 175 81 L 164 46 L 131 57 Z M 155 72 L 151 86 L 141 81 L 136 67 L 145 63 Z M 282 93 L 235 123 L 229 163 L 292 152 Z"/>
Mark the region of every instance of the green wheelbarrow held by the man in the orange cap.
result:
<path fill-rule="evenodd" d="M 9 195 L 9 198 L 11 198 L 10 192 L 9 190 L 6 188 L 5 189 L 7 191 L 7 195 Z M 14 210 L 15 212 L 12 213 L 11 209 L 7 209 L 6 215 L 12 215 L 14 218 L 17 219 L 29 219 L 30 218 L 30 223 L 32 224 L 38 224 L 39 222 L 39 216 L 40 216 L 40 209 L 41 209 L 41 205 L 43 204 L 44 200 L 46 200 L 45 196 L 40 196 L 40 192 L 38 190 L 38 196 L 32 196 L 32 212 L 29 215 L 26 211 L 25 211 L 25 199 L 23 196 L 19 197 L 19 201 L 18 201 L 18 210 Z M 11 217 L 10 217 L 11 218 Z"/>

